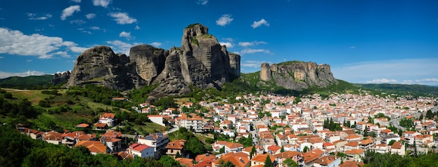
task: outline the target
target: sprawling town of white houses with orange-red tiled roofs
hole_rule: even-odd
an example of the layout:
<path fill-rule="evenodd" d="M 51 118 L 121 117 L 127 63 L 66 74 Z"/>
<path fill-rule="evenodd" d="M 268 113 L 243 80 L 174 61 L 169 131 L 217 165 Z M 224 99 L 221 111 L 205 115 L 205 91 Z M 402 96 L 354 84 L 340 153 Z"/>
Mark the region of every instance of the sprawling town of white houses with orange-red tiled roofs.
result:
<path fill-rule="evenodd" d="M 92 154 L 114 154 L 120 159 L 153 157 L 164 154 L 182 166 L 220 166 L 231 162 L 234 166 L 264 166 L 267 159 L 274 166 L 287 166 L 290 159 L 298 166 L 363 166 L 365 152 L 428 154 L 437 147 L 437 122 L 423 118 L 436 110 L 436 98 L 395 95 L 339 94 L 321 97 L 300 97 L 257 93 L 237 96 L 236 103 L 202 101 L 185 102 L 178 109 L 165 109 L 151 115 L 155 106 L 148 103 L 136 106 L 150 121 L 165 126 L 169 131 L 148 135 L 127 135 L 113 130 L 115 115 L 104 113 L 94 125 L 78 127 L 101 129 L 105 133 L 40 132 L 18 127 L 23 134 L 57 145 L 88 148 Z M 200 105 L 207 112 L 184 113 Z M 199 116 L 201 115 L 201 116 Z M 399 121 L 411 120 L 411 128 Z M 196 134 L 216 132 L 229 137 L 214 141 L 212 152 L 188 156 L 185 140 L 169 140 L 169 133 L 185 128 Z M 394 130 L 394 131 L 393 131 Z M 396 131 L 398 130 L 398 132 Z M 401 133 L 400 133 L 401 132 Z M 208 135 L 205 135 L 208 136 Z M 133 138 L 134 143 L 122 148 L 122 138 Z M 239 138 L 250 138 L 253 145 L 244 147 Z"/>

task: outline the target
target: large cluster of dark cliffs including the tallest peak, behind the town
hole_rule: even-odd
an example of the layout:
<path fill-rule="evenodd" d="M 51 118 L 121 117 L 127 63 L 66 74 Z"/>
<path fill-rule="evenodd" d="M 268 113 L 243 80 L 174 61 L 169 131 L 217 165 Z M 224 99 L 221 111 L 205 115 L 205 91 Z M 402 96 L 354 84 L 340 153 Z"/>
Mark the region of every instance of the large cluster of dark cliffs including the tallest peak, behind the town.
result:
<path fill-rule="evenodd" d="M 94 47 L 78 56 L 67 86 L 101 84 L 128 90 L 157 84 L 150 95 L 185 95 L 189 86 L 220 88 L 232 75 L 240 76 L 240 56 L 201 24 L 184 29 L 181 48 L 164 50 L 150 45 L 132 47 L 129 57 L 109 47 Z"/>

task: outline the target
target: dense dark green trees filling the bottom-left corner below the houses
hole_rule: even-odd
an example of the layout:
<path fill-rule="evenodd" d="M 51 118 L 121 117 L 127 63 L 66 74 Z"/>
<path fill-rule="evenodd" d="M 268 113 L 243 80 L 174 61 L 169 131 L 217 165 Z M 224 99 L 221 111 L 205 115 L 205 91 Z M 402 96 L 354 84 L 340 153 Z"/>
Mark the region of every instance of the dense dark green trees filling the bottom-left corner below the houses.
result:
<path fill-rule="evenodd" d="M 8 125 L 0 125 L 0 150 L 1 166 L 180 166 L 169 157 L 120 160 L 113 154 L 92 155 L 85 147 L 67 148 L 31 139 Z"/>

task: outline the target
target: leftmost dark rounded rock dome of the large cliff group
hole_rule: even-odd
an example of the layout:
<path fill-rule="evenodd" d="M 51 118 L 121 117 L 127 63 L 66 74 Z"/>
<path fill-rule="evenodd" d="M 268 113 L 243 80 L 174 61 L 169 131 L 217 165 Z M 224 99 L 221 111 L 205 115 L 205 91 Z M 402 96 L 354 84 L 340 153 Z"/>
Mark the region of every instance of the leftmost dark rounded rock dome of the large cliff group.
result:
<path fill-rule="evenodd" d="M 135 63 L 125 54 L 114 54 L 110 47 L 99 46 L 80 54 L 67 86 L 97 84 L 115 90 L 141 88 L 146 84 L 136 73 Z"/>

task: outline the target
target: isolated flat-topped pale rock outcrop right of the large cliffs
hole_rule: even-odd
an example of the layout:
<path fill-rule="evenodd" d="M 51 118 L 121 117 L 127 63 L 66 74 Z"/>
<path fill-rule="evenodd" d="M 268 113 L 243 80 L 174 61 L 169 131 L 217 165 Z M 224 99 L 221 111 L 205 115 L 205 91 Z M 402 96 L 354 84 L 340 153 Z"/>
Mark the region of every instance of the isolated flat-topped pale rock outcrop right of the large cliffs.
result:
<path fill-rule="evenodd" d="M 330 65 L 312 62 L 290 61 L 273 64 L 262 63 L 260 66 L 262 81 L 274 80 L 277 86 L 292 90 L 302 90 L 312 86 L 327 87 L 337 84 L 330 70 Z"/>

